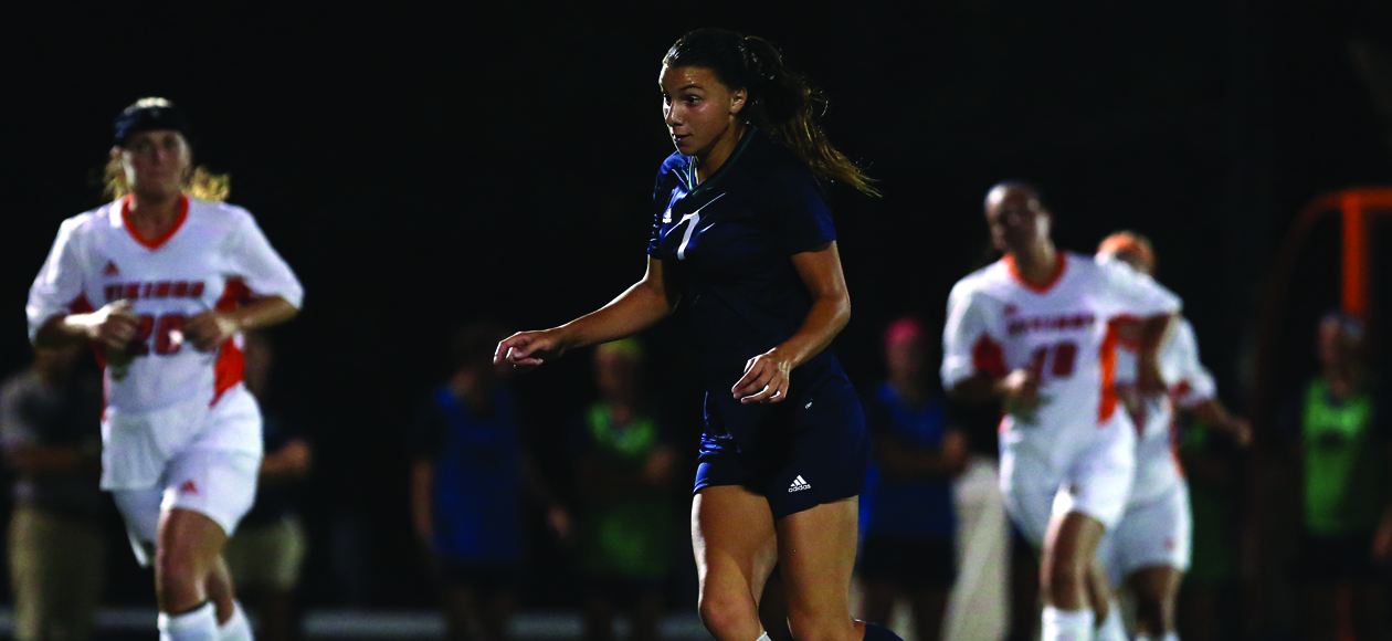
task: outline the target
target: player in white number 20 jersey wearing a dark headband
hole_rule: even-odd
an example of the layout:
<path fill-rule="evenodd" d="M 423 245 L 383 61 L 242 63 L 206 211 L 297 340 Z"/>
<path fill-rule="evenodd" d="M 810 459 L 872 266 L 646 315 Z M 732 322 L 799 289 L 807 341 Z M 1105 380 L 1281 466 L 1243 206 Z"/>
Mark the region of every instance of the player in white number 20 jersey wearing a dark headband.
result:
<path fill-rule="evenodd" d="M 221 557 L 262 457 L 241 333 L 292 318 L 303 290 L 245 209 L 191 196 L 210 183 L 177 107 L 142 99 L 114 130 L 117 199 L 58 229 L 29 339 L 92 341 L 103 365 L 102 488 L 155 563 L 160 638 L 249 640 Z"/>

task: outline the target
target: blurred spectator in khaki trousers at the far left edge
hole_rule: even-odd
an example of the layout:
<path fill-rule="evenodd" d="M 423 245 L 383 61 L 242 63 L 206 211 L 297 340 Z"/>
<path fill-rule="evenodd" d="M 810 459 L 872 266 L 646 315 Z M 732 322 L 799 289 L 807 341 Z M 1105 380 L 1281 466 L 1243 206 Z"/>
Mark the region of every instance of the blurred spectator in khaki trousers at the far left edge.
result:
<path fill-rule="evenodd" d="M 35 350 L 0 389 L 0 445 L 18 475 L 10 577 L 22 641 L 89 638 L 102 594 L 102 383 L 75 371 L 77 355 Z"/>

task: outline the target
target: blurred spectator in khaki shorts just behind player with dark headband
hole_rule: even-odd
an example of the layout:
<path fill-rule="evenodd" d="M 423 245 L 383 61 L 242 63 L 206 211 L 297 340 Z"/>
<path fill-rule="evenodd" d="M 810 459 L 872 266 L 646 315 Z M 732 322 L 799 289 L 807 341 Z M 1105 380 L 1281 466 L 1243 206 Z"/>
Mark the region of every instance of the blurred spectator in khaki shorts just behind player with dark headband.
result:
<path fill-rule="evenodd" d="M 232 584 L 259 619 L 258 638 L 298 637 L 295 587 L 305 562 L 306 538 L 294 489 L 309 475 L 313 450 L 294 422 L 266 406 L 274 351 L 260 333 L 245 336 L 246 389 L 260 403 L 266 456 L 256 479 L 256 503 L 242 517 L 223 556 Z"/>

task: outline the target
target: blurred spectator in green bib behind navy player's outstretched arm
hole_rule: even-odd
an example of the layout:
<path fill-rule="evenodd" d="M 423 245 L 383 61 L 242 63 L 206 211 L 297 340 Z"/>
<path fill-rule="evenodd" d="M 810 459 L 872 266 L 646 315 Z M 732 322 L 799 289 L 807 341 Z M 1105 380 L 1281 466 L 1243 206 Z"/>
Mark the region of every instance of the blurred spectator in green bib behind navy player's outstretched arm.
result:
<path fill-rule="evenodd" d="M 635 641 L 657 638 L 663 584 L 682 532 L 672 525 L 677 450 L 643 394 L 643 351 L 624 339 L 594 351 L 600 400 L 576 429 L 585 638 L 614 638 L 628 606 Z"/>

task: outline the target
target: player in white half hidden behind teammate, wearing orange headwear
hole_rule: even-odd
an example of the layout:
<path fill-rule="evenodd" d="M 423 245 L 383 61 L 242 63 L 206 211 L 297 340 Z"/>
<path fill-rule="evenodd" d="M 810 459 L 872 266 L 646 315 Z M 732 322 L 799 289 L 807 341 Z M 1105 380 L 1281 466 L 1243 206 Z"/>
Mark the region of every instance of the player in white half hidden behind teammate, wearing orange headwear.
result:
<path fill-rule="evenodd" d="M 1121 231 L 1097 248 L 1097 261 L 1118 263 L 1151 277 L 1155 252 L 1143 235 Z M 1228 412 L 1217 399 L 1212 375 L 1199 362 L 1199 343 L 1189 320 L 1176 319 L 1160 347 L 1161 376 L 1169 394 L 1130 393 L 1136 380 L 1136 344 L 1122 340 L 1116 354 L 1116 387 L 1136 424 L 1136 477 L 1116 531 L 1102 538 L 1098 557 L 1116 585 L 1136 595 L 1137 641 L 1178 641 L 1175 599 L 1189 569 L 1192 518 L 1189 485 L 1173 454 L 1175 408 L 1228 432 L 1239 445 L 1251 440 L 1247 421 Z"/>

